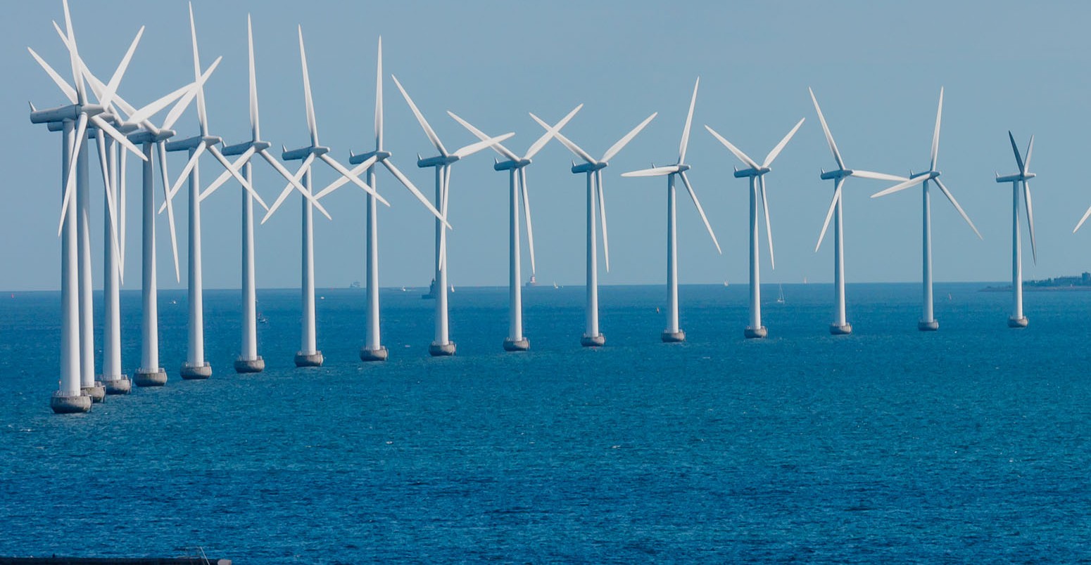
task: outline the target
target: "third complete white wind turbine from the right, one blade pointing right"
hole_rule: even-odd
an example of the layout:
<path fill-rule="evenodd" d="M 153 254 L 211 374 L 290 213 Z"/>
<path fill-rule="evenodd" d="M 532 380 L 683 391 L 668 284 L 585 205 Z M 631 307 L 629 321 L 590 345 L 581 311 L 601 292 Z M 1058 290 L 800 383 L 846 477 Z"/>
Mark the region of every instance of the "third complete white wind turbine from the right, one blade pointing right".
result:
<path fill-rule="evenodd" d="M 814 90 L 807 88 L 807 91 L 811 93 L 811 101 L 815 105 L 815 112 L 818 113 L 818 121 L 822 123 L 823 133 L 826 134 L 826 143 L 829 145 L 830 152 L 834 153 L 834 160 L 837 161 L 837 169 L 832 171 L 823 171 L 820 174 L 823 181 L 834 181 L 834 198 L 829 204 L 829 211 L 826 212 L 826 221 L 822 225 L 822 233 L 818 234 L 818 244 L 815 245 L 815 253 L 817 253 L 818 248 L 822 247 L 822 241 L 826 237 L 826 229 L 829 228 L 829 220 L 832 218 L 834 299 L 836 302 L 836 314 L 834 317 L 834 323 L 829 327 L 829 333 L 832 333 L 834 335 L 848 335 L 852 333 L 852 324 L 849 323 L 844 311 L 844 235 L 841 229 L 841 201 L 843 199 L 841 189 L 844 186 L 846 180 L 850 176 L 892 182 L 901 182 L 907 179 L 892 174 L 874 173 L 872 171 L 861 171 L 859 169 L 846 168 L 844 160 L 841 159 L 841 152 L 837 150 L 837 144 L 834 143 L 834 135 L 829 133 L 829 125 L 826 124 L 826 116 L 823 115 L 822 108 L 818 107 L 818 100 L 815 98 Z"/>

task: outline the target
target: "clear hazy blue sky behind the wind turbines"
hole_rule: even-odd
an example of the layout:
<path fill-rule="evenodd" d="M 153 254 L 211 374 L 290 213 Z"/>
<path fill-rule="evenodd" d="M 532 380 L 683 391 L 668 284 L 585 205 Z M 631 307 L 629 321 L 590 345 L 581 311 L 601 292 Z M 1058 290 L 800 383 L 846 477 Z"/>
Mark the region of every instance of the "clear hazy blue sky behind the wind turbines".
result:
<path fill-rule="evenodd" d="M 556 121 L 584 110 L 565 135 L 598 156 L 652 111 L 651 122 L 606 171 L 612 271 L 602 284 L 662 283 L 666 182 L 622 179 L 624 171 L 668 164 L 676 157 L 694 78 L 702 77 L 688 161 L 702 204 L 723 247 L 716 254 L 700 220 L 679 195 L 680 277 L 683 283 L 743 283 L 747 273 L 747 191 L 731 177 L 736 164 L 704 130 L 709 124 L 760 159 L 800 118 L 807 121 L 767 177 L 777 250 L 770 271 L 763 244 L 763 279 L 832 279 L 829 241 L 813 253 L 832 186 L 818 179 L 834 167 L 807 86 L 849 167 L 906 174 L 927 167 L 939 87 L 946 87 L 939 169 L 976 223 L 972 231 L 938 193 L 933 199 L 935 277 L 939 281 L 998 281 L 1010 273 L 1010 187 L 993 172 L 1015 171 L 1007 142 L 1036 135 L 1032 183 L 1039 265 L 1024 253 L 1024 273 L 1042 278 L 1087 270 L 1091 230 L 1071 229 L 1091 205 L 1082 176 L 1091 139 L 1088 73 L 1091 38 L 1086 2 L 194 2 L 203 65 L 224 61 L 205 87 L 212 133 L 227 143 L 249 136 L 245 19 L 253 14 L 262 132 L 276 147 L 308 143 L 296 25 L 303 26 L 321 142 L 347 161 L 369 149 L 374 105 L 375 44 L 383 36 L 386 145 L 394 161 L 425 194 L 431 171 L 416 168 L 433 152 L 388 74 L 403 82 L 448 148 L 473 138 L 446 116 L 453 110 L 491 134 L 514 131 L 521 152 L 541 133 L 528 111 Z M 26 101 L 59 106 L 62 96 L 26 52 L 32 46 L 64 74 L 63 46 L 50 20 L 62 22 L 60 0 L 9 2 L 0 23 L 5 87 L 0 127 L 7 205 L 0 208 L 0 287 L 59 286 L 60 151 L 57 134 L 27 120 Z M 99 76 L 117 65 L 140 25 L 147 29 L 120 94 L 146 103 L 192 78 L 185 2 L 73 0 L 81 54 Z M 1014 36 L 1020 36 L 1018 40 Z M 191 109 L 176 130 L 195 132 Z M 94 155 L 94 153 L 92 153 Z M 482 152 L 455 165 L 449 217 L 451 281 L 507 282 L 507 177 Z M 528 170 L 538 278 L 584 280 L 583 175 L 571 155 L 551 143 Z M 94 161 L 94 159 L 93 159 Z M 184 160 L 172 153 L 171 174 Z M 140 285 L 140 168 L 130 159 L 127 287 Z M 317 186 L 334 179 L 317 169 Z M 92 165 L 92 179 L 97 169 Z M 202 161 L 207 184 L 220 172 Z M 257 189 L 272 200 L 284 183 L 255 165 Z M 428 212 L 381 174 L 392 208 L 380 211 L 381 283 L 420 286 L 432 273 Z M 97 188 L 97 185 L 95 185 Z M 872 200 L 885 187 L 852 180 L 846 194 L 849 282 L 920 280 L 920 189 Z M 239 285 L 239 187 L 203 202 L 205 286 Z M 160 189 L 157 186 L 157 192 Z M 101 204 L 96 193 L 95 277 L 101 274 Z M 184 218 L 184 198 L 176 209 Z M 332 222 L 315 216 L 319 286 L 363 279 L 363 198 L 348 185 L 325 201 Z M 166 219 L 159 222 L 159 281 L 176 286 Z M 184 243 L 184 221 L 179 238 Z M 292 197 L 256 232 L 262 287 L 299 284 L 299 199 Z M 184 245 L 181 245 L 184 266 Z M 529 261 L 524 259 L 526 269 Z M 182 282 L 184 284 L 184 267 Z"/>

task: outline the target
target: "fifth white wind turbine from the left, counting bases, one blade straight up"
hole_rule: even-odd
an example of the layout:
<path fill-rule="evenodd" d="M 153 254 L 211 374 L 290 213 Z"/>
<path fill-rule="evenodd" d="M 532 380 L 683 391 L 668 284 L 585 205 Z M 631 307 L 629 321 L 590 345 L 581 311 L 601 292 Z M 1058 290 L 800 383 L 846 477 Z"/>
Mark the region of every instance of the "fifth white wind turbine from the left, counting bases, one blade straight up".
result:
<path fill-rule="evenodd" d="M 193 42 L 193 79 L 199 83 L 196 99 L 200 133 L 193 137 L 168 142 L 166 144 L 167 151 L 189 151 L 189 161 L 179 174 L 175 186 L 171 187 L 170 193 L 167 195 L 167 200 L 172 199 L 178 191 L 181 189 L 182 183 L 189 180 L 189 280 L 187 284 L 189 291 L 189 335 L 185 363 L 182 364 L 179 373 L 182 379 L 207 379 L 212 377 L 212 365 L 204 358 L 204 304 L 201 279 L 201 200 L 204 198 L 204 195 L 201 193 L 201 177 L 199 174 L 201 155 L 205 151 L 212 153 L 225 169 L 231 171 L 231 175 L 249 193 L 255 197 L 257 197 L 257 194 L 238 171 L 231 169 L 231 163 L 216 148 L 217 145 L 223 143 L 223 139 L 208 133 L 208 116 L 205 112 L 204 103 L 204 86 L 200 84 L 201 58 L 197 53 L 197 32 L 193 23 L 193 4 L 190 4 L 190 37 Z M 261 197 L 257 197 L 257 199 L 261 201 Z M 164 207 L 159 208 L 159 211 L 161 212 L 165 208 L 166 202 L 164 202 Z"/>

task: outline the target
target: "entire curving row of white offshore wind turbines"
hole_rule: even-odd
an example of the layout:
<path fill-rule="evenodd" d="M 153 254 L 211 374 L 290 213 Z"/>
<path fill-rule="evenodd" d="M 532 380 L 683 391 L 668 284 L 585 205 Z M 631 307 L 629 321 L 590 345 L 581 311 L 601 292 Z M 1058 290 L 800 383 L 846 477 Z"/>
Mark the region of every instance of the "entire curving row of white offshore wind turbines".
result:
<path fill-rule="evenodd" d="M 178 260 L 178 244 L 175 230 L 175 213 L 172 199 L 188 185 L 189 218 L 188 218 L 188 246 L 189 263 L 188 292 L 189 292 L 189 326 L 188 326 L 188 348 L 187 358 L 180 369 L 183 379 L 207 379 L 212 376 L 212 367 L 204 357 L 203 336 L 203 307 L 202 307 L 202 278 L 201 278 L 201 202 L 213 194 L 217 188 L 224 186 L 229 181 L 238 183 L 242 191 L 242 339 L 238 359 L 235 369 L 238 372 L 259 372 L 264 369 L 264 360 L 257 353 L 256 339 L 256 314 L 255 314 L 255 280 L 254 280 L 254 202 L 265 210 L 261 220 L 264 223 L 268 218 L 292 195 L 299 193 L 302 199 L 301 216 L 301 298 L 302 298 L 302 328 L 300 349 L 296 354 L 295 363 L 299 367 L 320 366 L 323 363 L 322 352 L 317 348 L 315 337 L 315 316 L 314 316 L 314 261 L 313 261 L 313 212 L 316 209 L 327 219 L 331 218 L 328 211 L 322 206 L 321 200 L 333 191 L 353 184 L 364 192 L 367 206 L 367 323 L 364 328 L 365 344 L 360 349 L 360 358 L 364 361 L 384 360 L 388 352 L 382 345 L 380 332 L 380 304 L 379 304 L 379 257 L 377 257 L 377 204 L 389 206 L 375 189 L 377 181 L 377 170 L 380 168 L 389 172 L 394 179 L 408 189 L 421 205 L 433 216 L 435 223 L 435 337 L 429 351 L 434 356 L 454 355 L 456 344 L 449 337 L 447 318 L 447 280 L 446 280 L 446 232 L 451 229 L 447 221 L 451 172 L 454 163 L 465 157 L 469 157 L 485 148 L 493 149 L 503 160 L 497 159 L 493 165 L 496 171 L 508 173 L 508 219 L 509 219 L 509 323 L 508 335 L 504 340 L 503 346 L 506 351 L 526 351 L 529 348 L 529 340 L 523 333 L 521 320 L 521 267 L 520 267 L 520 208 L 521 219 L 526 222 L 527 245 L 530 253 L 531 273 L 535 271 L 533 257 L 533 232 L 530 219 L 530 205 L 527 191 L 527 167 L 531 164 L 532 158 L 553 138 L 556 138 L 575 157 L 580 159 L 580 163 L 572 165 L 573 174 L 585 174 L 587 186 L 587 306 L 586 326 L 582 335 L 582 343 L 585 346 L 601 346 L 606 343 L 606 336 L 599 329 L 598 318 L 598 237 L 602 237 L 602 256 L 606 268 L 609 270 L 609 239 L 607 231 L 607 213 L 603 192 L 602 171 L 609 165 L 610 160 L 619 152 L 655 118 L 656 113 L 639 122 L 628 133 L 622 136 L 614 145 L 608 148 L 600 158 L 596 159 L 578 145 L 573 143 L 561 133 L 561 130 L 580 110 L 582 105 L 574 108 L 560 121 L 550 124 L 535 114 L 530 116 L 543 128 L 543 133 L 529 148 L 520 156 L 503 145 L 513 133 L 500 136 L 490 136 L 478 130 L 468 121 L 447 112 L 452 119 L 461 124 L 478 140 L 460 147 L 454 151 L 446 149 L 440 137 L 429 124 L 424 114 L 410 98 L 406 88 L 396 77 L 392 79 L 406 103 L 412 111 L 418 123 L 423 130 L 429 142 L 436 150 L 434 157 L 419 158 L 419 168 L 432 168 L 435 172 L 435 197 L 434 201 L 429 200 L 422 192 L 392 162 L 392 155 L 383 146 L 383 67 L 382 67 L 382 40 L 379 42 L 377 64 L 375 74 L 375 116 L 374 116 L 374 150 L 363 153 L 350 152 L 349 164 L 352 169 L 341 164 L 334 159 L 328 147 L 322 146 L 319 140 L 317 123 L 315 119 L 314 105 L 311 96 L 310 76 L 307 65 L 307 53 L 303 44 L 302 28 L 299 28 L 299 51 L 303 78 L 303 93 L 305 101 L 305 114 L 309 131 L 308 145 L 298 149 L 285 150 L 280 155 L 284 161 L 300 161 L 299 168 L 291 172 L 274 155 L 269 152 L 272 144 L 261 136 L 257 103 L 256 73 L 254 65 L 253 32 L 248 16 L 248 46 L 249 46 L 249 110 L 251 132 L 250 139 L 240 144 L 227 146 L 223 138 L 211 133 L 208 118 L 205 111 L 204 83 L 208 79 L 216 66 L 220 62 L 217 58 L 207 67 L 202 66 L 197 50 L 196 27 L 194 24 L 193 10 L 190 7 L 190 29 L 192 40 L 193 57 L 193 82 L 168 93 L 161 98 L 136 108 L 127 102 L 120 95 L 118 88 L 124 75 L 125 69 L 140 42 L 144 28 L 136 34 L 130 48 L 123 56 L 120 64 L 116 67 L 109 81 L 100 81 L 79 54 L 75 34 L 72 26 L 71 15 L 67 0 L 62 0 L 64 11 L 65 29 L 55 22 L 53 27 L 64 44 L 70 56 L 72 82 L 57 73 L 44 59 L 33 49 L 29 49 L 32 57 L 46 71 L 49 77 L 60 88 L 68 99 L 67 106 L 58 108 L 37 110 L 31 107 L 31 121 L 36 124 L 47 124 L 49 131 L 62 133 L 61 162 L 62 162 L 62 199 L 61 219 L 59 235 L 61 237 L 61 379 L 59 390 L 51 397 L 51 406 L 58 413 L 86 412 L 93 402 L 100 402 L 107 393 L 123 394 L 129 392 L 131 383 L 121 367 L 121 339 L 120 339 L 120 310 L 119 310 L 119 288 L 124 265 L 124 241 L 125 241 L 125 164 L 129 152 L 135 155 L 143 163 L 142 176 L 142 348 L 141 364 L 135 372 L 134 381 L 140 386 L 156 386 L 166 383 L 166 371 L 160 367 L 158 356 L 157 335 L 157 303 L 156 303 L 156 242 L 155 222 L 158 213 L 166 212 L 169 223 L 171 251 L 175 265 L 176 279 L 180 280 L 180 267 Z M 95 101 L 88 98 L 87 89 L 92 90 Z M 632 171 L 623 173 L 626 177 L 642 176 L 666 176 L 667 177 L 667 326 L 661 334 L 663 342 L 681 342 L 685 340 L 685 333 L 679 324 L 679 303 L 678 303 L 678 255 L 676 255 L 676 182 L 681 180 L 690 195 L 693 204 L 708 230 L 718 253 L 722 253 L 719 242 L 712 231 L 704 209 L 694 192 L 693 185 L 686 176 L 690 164 L 686 163 L 686 148 L 690 140 L 691 126 L 693 123 L 694 109 L 696 107 L 699 78 L 694 84 L 693 95 L 690 100 L 688 112 L 682 138 L 679 146 L 679 155 L 674 164 L 666 167 L 652 167 L 651 169 Z M 932 140 L 931 164 L 927 171 L 911 174 L 909 177 L 877 173 L 864 170 L 847 168 L 834 137 L 830 134 L 826 119 L 822 113 L 818 101 L 811 93 L 823 131 L 826 135 L 830 151 L 837 162 L 837 169 L 823 171 L 823 180 L 835 182 L 834 196 L 829 210 L 823 224 L 822 233 L 818 237 L 820 247 L 825 238 L 829 223 L 834 221 L 834 272 L 835 272 L 835 321 L 830 327 L 834 334 L 849 334 L 852 331 L 851 324 L 847 320 L 844 306 L 844 267 L 843 267 L 843 239 L 842 239 L 842 188 L 844 182 L 850 176 L 887 181 L 897 183 L 894 186 L 876 193 L 873 197 L 892 194 L 912 186 L 921 185 L 923 194 L 923 315 L 920 320 L 921 330 L 937 330 L 938 322 L 933 315 L 932 298 L 932 242 L 931 242 L 931 200 L 930 185 L 935 185 L 945 197 L 954 205 L 971 229 L 978 233 L 976 228 L 970 221 L 962 208 L 956 201 L 954 195 L 939 180 L 940 172 L 937 170 L 936 158 L 939 142 L 939 124 L 943 112 L 943 90 L 940 89 L 939 108 L 936 114 L 935 131 Z M 196 135 L 175 139 L 177 133 L 172 130 L 188 107 L 195 101 L 197 115 Z M 169 108 L 169 110 L 168 110 Z M 154 122 L 153 118 L 163 111 L 167 111 L 161 121 Z M 727 138 L 717 133 L 710 126 L 706 130 L 718 139 L 732 155 L 734 155 L 744 165 L 743 169 L 735 169 L 734 176 L 747 179 L 750 184 L 750 323 L 745 328 L 746 337 L 765 337 L 767 329 L 762 324 L 760 311 L 760 244 L 758 224 L 764 217 L 766 241 L 769 247 L 769 262 L 774 262 L 772 230 L 769 223 L 768 200 L 766 198 L 766 175 L 771 172 L 771 165 L 781 153 L 794 134 L 803 125 L 801 119 L 789 133 L 777 144 L 772 150 L 758 163 Z M 1016 155 L 1019 172 L 1008 176 L 997 176 L 997 182 L 1011 182 L 1014 191 L 1014 213 L 1012 213 L 1012 288 L 1014 288 L 1014 311 L 1009 319 L 1012 327 L 1026 327 L 1027 319 L 1022 314 L 1021 302 L 1021 262 L 1020 262 L 1020 195 L 1026 202 L 1028 225 L 1031 236 L 1031 246 L 1036 257 L 1034 244 L 1033 214 L 1031 211 L 1030 188 L 1028 180 L 1033 177 L 1029 172 L 1030 158 L 1033 149 L 1033 138 L 1027 149 L 1026 159 L 1016 146 L 1015 138 L 1010 136 L 1012 149 Z M 103 187 L 105 198 L 104 212 L 104 359 L 103 373 L 96 377 L 94 373 L 94 336 L 92 310 L 92 280 L 91 280 L 91 235 L 89 235 L 89 199 L 91 186 L 87 170 L 87 152 L 89 139 L 95 139 L 99 159 L 99 168 L 103 172 Z M 137 146 L 140 145 L 140 147 Z M 220 148 L 220 146 L 223 146 Z M 171 151 L 184 151 L 188 156 L 185 165 L 179 175 L 171 180 L 167 170 L 167 153 Z M 202 188 L 200 179 L 200 158 L 211 155 L 223 171 L 207 187 Z M 279 193 L 272 206 L 267 205 L 253 186 L 253 161 L 260 157 L 268 163 L 274 171 L 287 183 Z M 231 159 L 229 159 L 231 158 Z M 164 195 L 161 204 L 156 209 L 156 197 L 154 191 L 155 162 L 158 160 L 159 175 Z M 335 182 L 315 192 L 312 184 L 312 169 L 317 161 L 322 161 L 331 167 L 338 177 Z M 365 175 L 361 179 L 361 175 Z M 1020 184 L 1022 189 L 1020 191 Z M 762 214 L 758 214 L 760 205 Z M 1080 225 L 1091 216 L 1091 209 L 1080 220 Z M 599 228 L 601 225 L 601 228 Z M 1079 229 L 1079 225 L 1077 225 Z M 979 237 L 981 236 L 978 233 Z"/>

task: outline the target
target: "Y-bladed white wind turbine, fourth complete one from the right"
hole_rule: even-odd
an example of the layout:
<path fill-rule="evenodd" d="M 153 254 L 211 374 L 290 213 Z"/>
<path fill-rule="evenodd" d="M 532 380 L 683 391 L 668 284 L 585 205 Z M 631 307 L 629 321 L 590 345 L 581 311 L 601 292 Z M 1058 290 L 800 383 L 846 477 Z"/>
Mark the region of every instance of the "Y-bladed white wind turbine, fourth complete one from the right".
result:
<path fill-rule="evenodd" d="M 750 326 L 743 331 L 743 335 L 746 339 L 765 337 L 769 334 L 769 331 L 762 326 L 762 273 L 760 273 L 760 259 L 758 257 L 758 233 L 757 233 L 757 199 L 762 198 L 762 210 L 765 211 L 765 235 L 766 239 L 769 242 L 769 266 L 774 269 L 777 268 L 777 263 L 772 257 L 772 228 L 769 225 L 769 200 L 765 196 L 765 175 L 771 171 L 769 168 L 772 164 L 774 159 L 780 155 L 780 151 L 788 145 L 795 132 L 799 131 L 800 126 L 806 118 L 796 122 L 795 127 L 788 132 L 788 135 L 777 144 L 776 147 L 769 151 L 766 156 L 765 161 L 762 164 L 757 164 L 757 161 L 751 159 L 746 153 L 742 152 L 738 147 L 731 145 L 720 134 L 716 133 L 715 130 L 705 126 L 708 133 L 712 134 L 714 137 L 720 140 L 724 147 L 727 147 L 735 157 L 739 158 L 743 164 L 747 165 L 746 169 L 740 171 L 735 169 L 735 177 L 750 179 L 750 196 L 751 196 L 751 281 L 750 281 L 750 293 L 751 293 L 751 319 Z M 759 194 L 760 193 L 760 194 Z"/>

